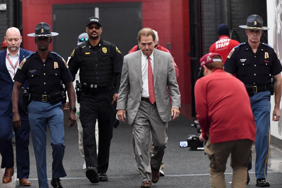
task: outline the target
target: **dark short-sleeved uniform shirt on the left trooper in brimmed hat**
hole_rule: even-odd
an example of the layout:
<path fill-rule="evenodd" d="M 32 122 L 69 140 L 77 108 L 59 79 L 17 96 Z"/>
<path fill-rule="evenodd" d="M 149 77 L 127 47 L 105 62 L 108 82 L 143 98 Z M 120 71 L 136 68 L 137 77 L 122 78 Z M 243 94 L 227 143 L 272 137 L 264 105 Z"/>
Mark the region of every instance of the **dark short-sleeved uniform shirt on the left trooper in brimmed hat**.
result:
<path fill-rule="evenodd" d="M 70 83 L 73 77 L 65 60 L 55 52 L 49 52 L 45 63 L 34 52 L 26 57 L 16 72 L 14 80 L 24 83 L 28 79 L 30 92 L 36 95 L 49 95 L 61 90 L 60 81 Z"/>

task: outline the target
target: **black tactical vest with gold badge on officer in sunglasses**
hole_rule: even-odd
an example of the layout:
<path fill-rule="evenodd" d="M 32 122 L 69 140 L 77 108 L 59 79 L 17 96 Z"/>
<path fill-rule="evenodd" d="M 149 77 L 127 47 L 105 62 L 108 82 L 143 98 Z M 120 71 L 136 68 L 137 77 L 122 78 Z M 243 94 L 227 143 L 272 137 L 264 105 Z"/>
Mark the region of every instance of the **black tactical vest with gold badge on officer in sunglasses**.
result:
<path fill-rule="evenodd" d="M 110 42 L 103 41 L 98 51 L 90 50 L 83 42 L 79 45 L 83 62 L 80 64 L 80 81 L 106 87 L 114 84 L 113 63 L 110 56 Z"/>

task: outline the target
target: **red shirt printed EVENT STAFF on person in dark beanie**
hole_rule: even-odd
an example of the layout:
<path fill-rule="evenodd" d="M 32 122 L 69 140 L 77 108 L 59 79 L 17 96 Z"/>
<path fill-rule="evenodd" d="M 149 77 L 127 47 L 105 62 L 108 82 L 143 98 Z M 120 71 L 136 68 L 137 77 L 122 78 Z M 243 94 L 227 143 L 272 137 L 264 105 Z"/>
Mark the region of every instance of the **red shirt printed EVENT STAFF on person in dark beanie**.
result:
<path fill-rule="evenodd" d="M 226 61 L 226 58 L 232 48 L 235 46 L 238 46 L 240 43 L 238 41 L 235 41 L 233 39 L 230 39 L 226 35 L 222 35 L 219 37 L 219 40 L 212 44 L 211 47 L 209 47 L 209 53 L 219 53 L 221 55 L 223 63 Z"/>

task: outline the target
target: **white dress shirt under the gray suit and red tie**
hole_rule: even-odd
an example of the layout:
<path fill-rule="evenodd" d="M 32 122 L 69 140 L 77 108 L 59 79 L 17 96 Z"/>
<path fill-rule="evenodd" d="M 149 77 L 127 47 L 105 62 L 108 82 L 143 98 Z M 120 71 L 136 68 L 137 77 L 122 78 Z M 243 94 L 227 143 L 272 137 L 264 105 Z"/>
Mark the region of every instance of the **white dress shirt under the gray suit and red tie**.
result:
<path fill-rule="evenodd" d="M 154 75 L 154 50 L 149 56 L 152 66 L 152 71 Z M 142 72 L 142 97 L 149 98 L 149 88 L 148 88 L 148 59 L 141 51 L 141 72 Z"/>

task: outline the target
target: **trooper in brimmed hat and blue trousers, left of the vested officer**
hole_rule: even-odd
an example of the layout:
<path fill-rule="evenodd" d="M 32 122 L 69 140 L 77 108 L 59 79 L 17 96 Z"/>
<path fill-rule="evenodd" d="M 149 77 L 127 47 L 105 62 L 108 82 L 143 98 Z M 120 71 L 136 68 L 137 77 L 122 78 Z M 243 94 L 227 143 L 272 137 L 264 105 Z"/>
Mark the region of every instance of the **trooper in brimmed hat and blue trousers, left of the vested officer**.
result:
<path fill-rule="evenodd" d="M 39 23 L 35 33 L 28 36 L 35 37 L 37 52 L 31 53 L 19 65 L 14 77 L 15 83 L 12 93 L 13 123 L 15 127 L 21 126 L 18 112 L 19 93 L 25 80 L 28 79 L 30 90 L 30 104 L 28 117 L 31 128 L 34 155 L 40 188 L 48 188 L 46 173 L 46 125 L 50 130 L 50 140 L 53 149 L 52 180 L 51 185 L 62 188 L 60 177 L 65 177 L 63 156 L 65 151 L 64 125 L 62 111 L 62 95 L 60 80 L 67 86 L 70 106 L 75 107 L 75 91 L 73 76 L 68 70 L 65 60 L 55 52 L 49 51 L 51 36 L 58 33 L 51 32 L 46 23 Z M 68 117 L 69 127 L 75 124 L 75 108 Z"/>

